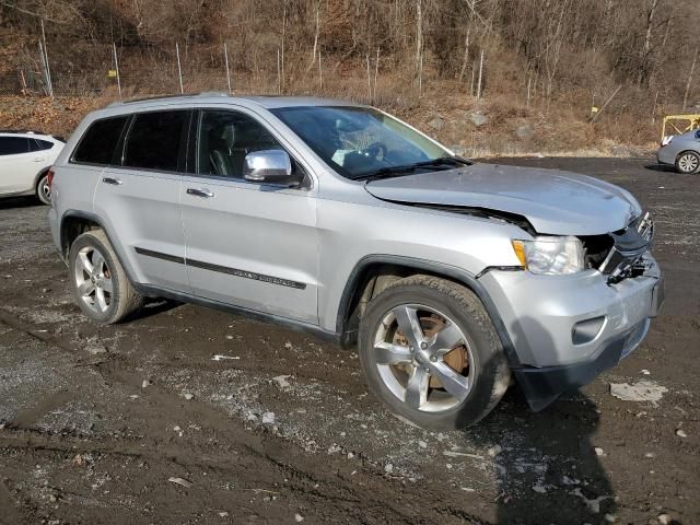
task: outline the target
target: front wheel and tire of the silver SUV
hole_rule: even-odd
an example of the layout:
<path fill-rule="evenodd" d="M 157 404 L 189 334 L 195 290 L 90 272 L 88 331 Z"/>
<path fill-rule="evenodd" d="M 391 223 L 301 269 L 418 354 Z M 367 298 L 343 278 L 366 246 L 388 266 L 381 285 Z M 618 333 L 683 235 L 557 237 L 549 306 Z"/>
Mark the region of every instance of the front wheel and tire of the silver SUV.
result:
<path fill-rule="evenodd" d="M 374 298 L 360 324 L 359 347 L 370 390 L 422 428 L 477 423 L 510 382 L 481 301 L 435 277 L 400 279 Z"/>

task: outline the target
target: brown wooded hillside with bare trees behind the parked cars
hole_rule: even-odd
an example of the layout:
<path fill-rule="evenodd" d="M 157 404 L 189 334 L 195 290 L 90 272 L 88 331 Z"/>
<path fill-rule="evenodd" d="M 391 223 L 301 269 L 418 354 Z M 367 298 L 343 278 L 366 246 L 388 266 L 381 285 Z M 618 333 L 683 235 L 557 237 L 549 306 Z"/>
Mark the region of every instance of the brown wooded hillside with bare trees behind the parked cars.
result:
<path fill-rule="evenodd" d="M 0 126 L 67 133 L 182 72 L 185 92 L 370 103 L 465 154 L 653 148 L 660 117 L 699 110 L 698 20 L 693 0 L 3 1 Z M 36 105 L 42 21 L 57 102 Z"/>

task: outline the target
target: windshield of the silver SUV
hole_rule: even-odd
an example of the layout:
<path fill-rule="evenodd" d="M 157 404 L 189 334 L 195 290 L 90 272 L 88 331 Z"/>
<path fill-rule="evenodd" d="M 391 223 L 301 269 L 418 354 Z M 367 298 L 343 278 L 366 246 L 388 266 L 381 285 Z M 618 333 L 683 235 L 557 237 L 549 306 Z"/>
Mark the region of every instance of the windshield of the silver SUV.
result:
<path fill-rule="evenodd" d="M 405 124 L 369 107 L 281 107 L 272 113 L 348 178 L 396 176 L 404 168 L 452 156 Z"/>

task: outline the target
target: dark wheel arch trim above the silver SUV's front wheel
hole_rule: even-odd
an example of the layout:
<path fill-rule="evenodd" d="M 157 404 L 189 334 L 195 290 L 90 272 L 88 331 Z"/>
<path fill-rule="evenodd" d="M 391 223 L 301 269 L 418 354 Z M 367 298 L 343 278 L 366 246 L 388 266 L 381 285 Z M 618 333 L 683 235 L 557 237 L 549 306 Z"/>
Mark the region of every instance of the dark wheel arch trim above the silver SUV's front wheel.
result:
<path fill-rule="evenodd" d="M 363 303 L 366 304 L 371 296 L 380 293 L 396 278 L 402 279 L 417 273 L 446 279 L 474 292 L 483 304 L 495 327 L 510 365 L 520 364 L 515 347 L 495 303 L 476 276 L 452 265 L 396 255 L 368 255 L 360 259 L 350 272 L 340 298 L 336 318 L 336 331 L 340 335 L 341 345 L 349 347 L 354 342 Z M 380 283 L 378 289 L 376 288 L 377 277 L 388 277 L 386 282 Z"/>

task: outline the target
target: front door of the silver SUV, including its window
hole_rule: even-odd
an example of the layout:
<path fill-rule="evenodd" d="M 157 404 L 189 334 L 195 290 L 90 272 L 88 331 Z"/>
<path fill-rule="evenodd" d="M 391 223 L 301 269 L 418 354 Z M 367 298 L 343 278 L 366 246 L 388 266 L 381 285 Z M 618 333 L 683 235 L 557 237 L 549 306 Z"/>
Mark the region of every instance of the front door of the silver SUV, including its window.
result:
<path fill-rule="evenodd" d="M 253 115 L 201 110 L 180 203 L 192 293 L 317 323 L 316 198 L 243 179 L 250 151 L 284 149 Z M 302 166 L 293 161 L 295 170 Z"/>

